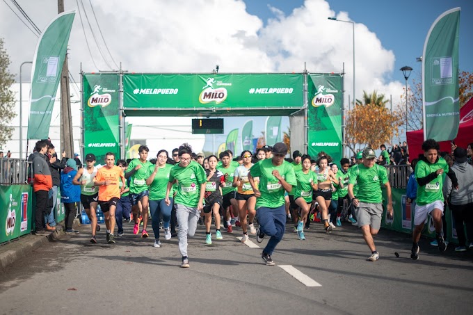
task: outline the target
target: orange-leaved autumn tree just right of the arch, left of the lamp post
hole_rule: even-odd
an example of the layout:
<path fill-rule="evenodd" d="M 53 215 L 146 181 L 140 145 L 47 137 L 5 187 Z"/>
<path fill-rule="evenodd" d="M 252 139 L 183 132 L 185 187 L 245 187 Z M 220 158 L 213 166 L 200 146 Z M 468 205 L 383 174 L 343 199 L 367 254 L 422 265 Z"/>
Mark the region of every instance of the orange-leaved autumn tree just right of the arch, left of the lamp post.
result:
<path fill-rule="evenodd" d="M 356 145 L 369 145 L 376 149 L 383 143 L 390 143 L 398 136 L 403 124 L 400 113 L 389 111 L 386 106 L 364 104 L 348 111 L 346 119 L 346 145 L 356 154 Z"/>

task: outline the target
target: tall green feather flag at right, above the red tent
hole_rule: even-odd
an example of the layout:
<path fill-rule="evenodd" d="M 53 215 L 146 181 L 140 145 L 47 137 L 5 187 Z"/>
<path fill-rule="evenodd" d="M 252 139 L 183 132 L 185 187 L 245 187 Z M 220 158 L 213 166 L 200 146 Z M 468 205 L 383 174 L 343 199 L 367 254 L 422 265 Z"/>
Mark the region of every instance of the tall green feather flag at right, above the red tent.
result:
<path fill-rule="evenodd" d="M 428 31 L 422 58 L 424 140 L 453 140 L 458 134 L 458 30 L 460 8 L 448 10 Z"/>

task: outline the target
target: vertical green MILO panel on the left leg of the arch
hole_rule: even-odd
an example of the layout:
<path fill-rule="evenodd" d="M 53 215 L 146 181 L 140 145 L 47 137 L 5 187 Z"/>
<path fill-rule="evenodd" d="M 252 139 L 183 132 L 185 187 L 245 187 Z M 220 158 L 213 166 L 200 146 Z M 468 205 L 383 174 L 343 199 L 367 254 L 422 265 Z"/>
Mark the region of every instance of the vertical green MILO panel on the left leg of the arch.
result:
<path fill-rule="evenodd" d="M 84 154 L 95 154 L 97 164 L 105 163 L 107 152 L 120 159 L 118 79 L 118 74 L 83 75 Z"/>

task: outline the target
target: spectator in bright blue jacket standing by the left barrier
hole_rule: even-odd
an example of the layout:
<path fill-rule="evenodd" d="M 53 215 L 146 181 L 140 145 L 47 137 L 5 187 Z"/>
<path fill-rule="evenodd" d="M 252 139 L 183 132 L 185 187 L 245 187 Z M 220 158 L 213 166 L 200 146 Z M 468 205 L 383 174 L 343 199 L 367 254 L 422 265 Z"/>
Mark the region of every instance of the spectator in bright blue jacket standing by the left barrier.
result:
<path fill-rule="evenodd" d="M 61 201 L 65 207 L 65 232 L 66 234 L 79 233 L 72 229 L 77 212 L 76 202 L 81 201 L 81 186 L 72 184 L 72 179 L 77 174 L 77 164 L 74 159 L 68 159 L 66 167 L 61 172 Z"/>

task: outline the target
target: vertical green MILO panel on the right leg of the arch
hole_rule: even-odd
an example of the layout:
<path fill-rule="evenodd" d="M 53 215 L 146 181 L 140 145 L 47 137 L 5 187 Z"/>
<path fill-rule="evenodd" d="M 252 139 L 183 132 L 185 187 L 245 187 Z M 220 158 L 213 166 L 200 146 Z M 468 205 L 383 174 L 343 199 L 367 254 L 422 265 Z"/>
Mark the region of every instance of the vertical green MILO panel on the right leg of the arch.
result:
<path fill-rule="evenodd" d="M 339 163 L 343 157 L 343 78 L 339 74 L 310 74 L 307 80 L 307 152 L 312 157 L 326 152 L 334 163 Z"/>

